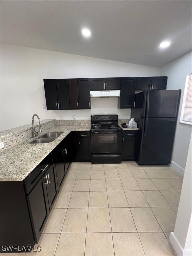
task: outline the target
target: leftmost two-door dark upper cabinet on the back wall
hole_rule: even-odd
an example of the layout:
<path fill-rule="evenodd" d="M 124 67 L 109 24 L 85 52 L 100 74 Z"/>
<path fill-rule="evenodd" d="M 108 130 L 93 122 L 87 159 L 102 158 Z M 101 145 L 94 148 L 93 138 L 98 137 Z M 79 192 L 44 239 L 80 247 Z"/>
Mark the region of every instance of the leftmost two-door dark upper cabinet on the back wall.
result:
<path fill-rule="evenodd" d="M 70 109 L 68 79 L 44 79 L 47 110 Z"/>

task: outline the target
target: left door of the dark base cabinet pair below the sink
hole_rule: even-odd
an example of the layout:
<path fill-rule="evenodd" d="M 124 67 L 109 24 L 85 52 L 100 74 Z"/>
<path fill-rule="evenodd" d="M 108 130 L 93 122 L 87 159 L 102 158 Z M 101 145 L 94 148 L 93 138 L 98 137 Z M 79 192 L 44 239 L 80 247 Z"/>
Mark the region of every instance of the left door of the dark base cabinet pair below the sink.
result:
<path fill-rule="evenodd" d="M 63 148 L 60 148 L 55 154 L 55 169 L 57 174 L 58 190 L 60 190 L 65 177 L 65 166 L 63 157 Z"/>

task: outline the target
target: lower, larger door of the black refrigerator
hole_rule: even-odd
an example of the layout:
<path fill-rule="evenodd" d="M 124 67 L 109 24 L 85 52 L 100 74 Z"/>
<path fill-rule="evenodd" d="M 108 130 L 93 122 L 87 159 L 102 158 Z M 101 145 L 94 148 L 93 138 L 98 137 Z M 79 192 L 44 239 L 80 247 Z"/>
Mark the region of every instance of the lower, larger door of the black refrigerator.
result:
<path fill-rule="evenodd" d="M 170 164 L 176 118 L 146 118 L 142 129 L 138 164 Z"/>

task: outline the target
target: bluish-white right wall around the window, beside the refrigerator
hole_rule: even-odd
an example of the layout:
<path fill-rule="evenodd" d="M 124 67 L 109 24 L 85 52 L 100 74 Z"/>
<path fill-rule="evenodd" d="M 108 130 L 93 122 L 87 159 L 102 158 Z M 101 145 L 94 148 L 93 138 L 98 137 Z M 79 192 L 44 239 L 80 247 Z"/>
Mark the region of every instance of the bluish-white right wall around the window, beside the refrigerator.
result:
<path fill-rule="evenodd" d="M 190 74 L 191 72 L 191 52 L 172 61 L 161 69 L 161 75 L 168 76 L 167 90 L 181 89 L 181 100 L 172 155 L 172 167 L 181 175 L 184 175 L 192 126 L 182 124 L 179 121 L 185 88 L 185 80 L 187 74 Z"/>

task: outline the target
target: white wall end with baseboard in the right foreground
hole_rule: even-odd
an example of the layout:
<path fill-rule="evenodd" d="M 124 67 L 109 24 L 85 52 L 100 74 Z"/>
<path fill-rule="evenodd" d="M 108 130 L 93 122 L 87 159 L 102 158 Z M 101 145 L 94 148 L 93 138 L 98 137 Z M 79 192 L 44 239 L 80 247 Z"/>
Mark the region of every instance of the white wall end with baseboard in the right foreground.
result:
<path fill-rule="evenodd" d="M 176 255 L 192 255 L 192 138 L 187 156 L 183 186 L 175 223 L 175 230 L 170 234 L 170 243 Z"/>

